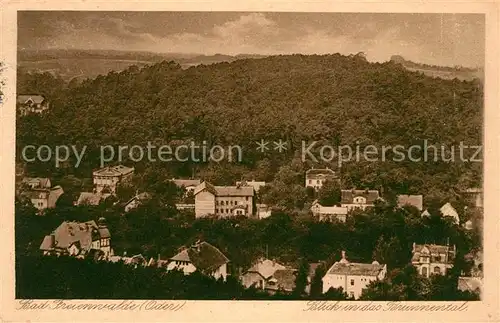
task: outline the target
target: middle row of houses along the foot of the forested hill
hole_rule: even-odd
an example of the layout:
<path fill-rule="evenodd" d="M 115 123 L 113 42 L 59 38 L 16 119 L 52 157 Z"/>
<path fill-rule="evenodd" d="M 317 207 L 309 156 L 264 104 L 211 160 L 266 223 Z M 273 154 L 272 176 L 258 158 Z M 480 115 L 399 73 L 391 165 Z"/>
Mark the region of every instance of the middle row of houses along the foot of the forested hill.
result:
<path fill-rule="evenodd" d="M 119 183 L 130 182 L 134 174 L 133 167 L 123 165 L 109 166 L 98 169 L 92 173 L 93 190 L 81 192 L 75 205 L 99 205 L 108 197 L 116 194 Z M 309 169 L 305 174 L 305 186 L 314 190 L 320 190 L 327 181 L 337 181 L 340 178 L 337 173 L 329 168 Z M 33 205 L 43 210 L 55 206 L 57 199 L 63 194 L 60 186 L 51 187 L 48 178 L 24 178 L 23 194 L 29 197 Z M 196 218 L 205 216 L 216 216 L 220 218 L 233 216 L 247 216 L 258 219 L 271 215 L 270 207 L 258 203 L 257 193 L 266 185 L 262 181 L 238 181 L 233 186 L 216 186 L 200 179 L 172 179 L 178 187 L 185 190 L 185 196 L 191 199 L 184 203 L 177 203 L 179 210 L 192 210 Z M 469 189 L 466 196 L 475 203 L 477 208 L 482 207 L 482 190 Z M 129 201 L 123 201 L 125 212 L 138 207 L 141 203 L 151 198 L 147 192 L 137 192 Z M 373 207 L 376 201 L 383 200 L 378 190 L 342 189 L 340 203 L 333 206 L 321 205 L 315 200 L 310 212 L 320 221 L 337 220 L 345 222 L 349 212 Z M 398 195 L 397 205 L 413 206 L 421 212 L 421 216 L 430 216 L 424 209 L 422 195 Z M 450 204 L 444 204 L 441 209 L 444 217 L 451 217 L 455 223 L 459 223 L 459 214 Z M 468 229 L 472 228 L 469 220 L 464 224 Z"/>

